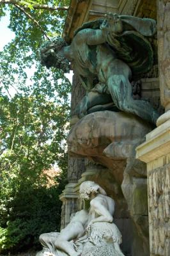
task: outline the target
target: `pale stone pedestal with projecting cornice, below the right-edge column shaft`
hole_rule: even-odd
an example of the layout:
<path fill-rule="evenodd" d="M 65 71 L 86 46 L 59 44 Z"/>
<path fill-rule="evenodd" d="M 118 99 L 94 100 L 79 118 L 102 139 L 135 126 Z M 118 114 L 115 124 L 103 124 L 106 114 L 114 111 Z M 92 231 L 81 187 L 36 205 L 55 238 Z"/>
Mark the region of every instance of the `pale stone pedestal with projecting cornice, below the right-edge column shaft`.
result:
<path fill-rule="evenodd" d="M 170 255 L 170 120 L 146 135 L 136 148 L 147 163 L 150 255 Z"/>

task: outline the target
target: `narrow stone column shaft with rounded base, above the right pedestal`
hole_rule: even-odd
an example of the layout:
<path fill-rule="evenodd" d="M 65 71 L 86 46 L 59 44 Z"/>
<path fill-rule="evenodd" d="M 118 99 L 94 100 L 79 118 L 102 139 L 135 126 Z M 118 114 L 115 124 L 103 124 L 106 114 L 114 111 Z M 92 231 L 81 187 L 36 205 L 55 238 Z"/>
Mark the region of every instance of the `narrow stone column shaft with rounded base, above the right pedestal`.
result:
<path fill-rule="evenodd" d="M 160 74 L 160 99 L 165 113 L 157 126 L 170 119 L 170 2 L 157 0 L 158 67 Z"/>

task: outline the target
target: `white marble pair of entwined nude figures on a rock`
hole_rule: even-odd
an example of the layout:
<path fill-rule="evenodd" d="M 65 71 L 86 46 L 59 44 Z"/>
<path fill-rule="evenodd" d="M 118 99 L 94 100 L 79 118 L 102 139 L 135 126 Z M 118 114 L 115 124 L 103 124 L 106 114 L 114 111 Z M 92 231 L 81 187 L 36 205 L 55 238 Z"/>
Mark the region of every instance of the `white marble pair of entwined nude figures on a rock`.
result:
<path fill-rule="evenodd" d="M 90 201 L 89 209 L 76 212 L 60 233 L 42 234 L 43 251 L 37 256 L 123 256 L 121 234 L 112 217 L 114 200 L 93 181 L 82 182 L 79 193 Z"/>

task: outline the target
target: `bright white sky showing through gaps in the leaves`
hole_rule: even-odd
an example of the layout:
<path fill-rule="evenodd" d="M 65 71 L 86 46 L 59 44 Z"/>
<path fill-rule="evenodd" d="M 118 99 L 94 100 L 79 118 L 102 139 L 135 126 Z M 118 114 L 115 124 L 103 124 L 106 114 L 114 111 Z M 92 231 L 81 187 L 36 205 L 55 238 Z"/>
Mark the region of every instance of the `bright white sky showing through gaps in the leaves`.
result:
<path fill-rule="evenodd" d="M 10 13 L 6 12 L 6 16 L 2 17 L 0 20 L 0 51 L 3 51 L 4 45 L 8 44 L 12 39 L 15 38 L 15 33 L 11 31 L 8 26 L 10 24 Z M 27 69 L 27 77 L 31 77 L 33 73 L 35 72 L 35 68 L 32 67 L 31 70 Z M 73 72 L 70 71 L 69 74 L 65 74 L 65 76 L 70 80 L 72 83 L 72 76 Z M 28 79 L 28 83 L 30 83 L 30 80 Z M 10 88 L 10 94 L 15 95 L 15 90 L 13 88 Z"/>

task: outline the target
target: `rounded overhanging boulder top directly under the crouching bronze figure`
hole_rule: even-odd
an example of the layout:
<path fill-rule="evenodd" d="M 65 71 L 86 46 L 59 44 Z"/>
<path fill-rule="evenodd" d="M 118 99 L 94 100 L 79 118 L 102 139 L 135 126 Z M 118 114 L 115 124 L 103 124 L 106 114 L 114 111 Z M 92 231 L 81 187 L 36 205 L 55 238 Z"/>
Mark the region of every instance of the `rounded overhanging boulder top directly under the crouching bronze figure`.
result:
<path fill-rule="evenodd" d="M 116 162 L 127 159 L 134 145 L 143 141 L 150 130 L 151 125 L 134 115 L 111 111 L 91 113 L 70 131 L 68 149 L 72 156 L 87 156 L 117 172 Z M 121 184 L 123 173 L 118 180 Z"/>

